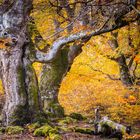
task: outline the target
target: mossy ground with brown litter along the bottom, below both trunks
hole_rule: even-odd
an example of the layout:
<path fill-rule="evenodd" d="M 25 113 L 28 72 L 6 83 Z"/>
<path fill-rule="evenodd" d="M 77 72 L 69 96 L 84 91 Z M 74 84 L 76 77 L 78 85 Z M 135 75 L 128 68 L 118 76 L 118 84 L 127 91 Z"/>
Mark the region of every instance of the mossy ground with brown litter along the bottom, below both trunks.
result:
<path fill-rule="evenodd" d="M 60 123 L 61 122 L 61 123 Z M 14 140 L 108 140 L 100 138 L 93 134 L 94 125 L 89 120 L 76 120 L 69 116 L 55 120 L 50 123 L 36 122 L 26 125 L 24 128 L 20 126 L 8 126 L 0 128 L 0 139 L 5 137 L 6 140 L 13 138 Z M 24 132 L 24 133 L 23 133 Z M 1 135 L 3 134 L 3 135 Z M 14 137 L 14 135 L 16 135 Z M 133 135 L 126 139 L 133 139 Z M 115 140 L 115 139 L 111 139 Z"/>

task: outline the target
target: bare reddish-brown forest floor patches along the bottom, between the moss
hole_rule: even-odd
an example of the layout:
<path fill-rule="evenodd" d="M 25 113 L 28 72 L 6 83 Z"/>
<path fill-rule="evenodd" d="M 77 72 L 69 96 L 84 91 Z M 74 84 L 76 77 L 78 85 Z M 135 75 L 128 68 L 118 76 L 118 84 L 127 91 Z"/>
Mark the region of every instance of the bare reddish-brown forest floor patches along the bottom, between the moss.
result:
<path fill-rule="evenodd" d="M 62 127 L 66 127 L 66 128 L 79 127 L 79 128 L 94 129 L 93 124 L 88 124 L 87 122 L 84 122 L 84 121 L 70 123 L 67 125 L 63 125 Z M 131 136 L 134 136 L 135 132 L 139 133 L 139 130 L 140 130 L 140 125 L 135 126 L 135 129 L 133 130 Z M 100 136 L 96 136 L 96 135 L 82 134 L 79 132 L 72 132 L 72 131 L 61 133 L 61 136 L 63 140 L 117 140 L 117 139 L 101 138 Z M 29 133 L 28 131 L 26 131 L 25 133 L 18 134 L 18 135 L 7 135 L 7 134 L 0 135 L 0 140 L 50 140 L 50 139 L 47 139 L 44 137 L 35 137 L 33 136 L 32 133 Z M 130 140 L 130 139 L 126 139 L 126 140 Z M 140 140 L 140 135 L 138 138 L 131 137 L 131 140 Z"/>

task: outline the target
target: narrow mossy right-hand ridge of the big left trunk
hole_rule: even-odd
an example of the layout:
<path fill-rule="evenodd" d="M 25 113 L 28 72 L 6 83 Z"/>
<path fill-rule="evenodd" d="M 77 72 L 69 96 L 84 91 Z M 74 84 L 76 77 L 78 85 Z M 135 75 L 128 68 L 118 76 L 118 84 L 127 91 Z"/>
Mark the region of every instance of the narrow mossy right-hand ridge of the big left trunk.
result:
<path fill-rule="evenodd" d="M 36 115 L 39 115 L 41 111 L 41 103 L 40 103 L 40 94 L 38 87 L 38 80 L 35 73 L 35 70 L 32 66 L 32 62 L 29 58 L 31 58 L 31 47 L 33 44 L 30 43 L 26 45 L 24 50 L 23 57 L 23 66 L 24 66 L 24 80 L 25 80 L 25 89 L 27 93 L 27 101 L 28 101 L 28 110 L 29 110 L 29 118 L 30 121 L 33 122 L 36 119 Z"/>

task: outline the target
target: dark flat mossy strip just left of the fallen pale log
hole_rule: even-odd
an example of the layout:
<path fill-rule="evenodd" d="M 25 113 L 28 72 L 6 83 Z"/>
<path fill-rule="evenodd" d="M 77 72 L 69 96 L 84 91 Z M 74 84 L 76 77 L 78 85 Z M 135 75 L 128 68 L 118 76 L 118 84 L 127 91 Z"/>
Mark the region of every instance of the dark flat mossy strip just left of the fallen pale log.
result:
<path fill-rule="evenodd" d="M 94 130 L 91 128 L 81 128 L 81 127 L 75 127 L 75 132 L 83 133 L 83 134 L 94 134 Z"/>

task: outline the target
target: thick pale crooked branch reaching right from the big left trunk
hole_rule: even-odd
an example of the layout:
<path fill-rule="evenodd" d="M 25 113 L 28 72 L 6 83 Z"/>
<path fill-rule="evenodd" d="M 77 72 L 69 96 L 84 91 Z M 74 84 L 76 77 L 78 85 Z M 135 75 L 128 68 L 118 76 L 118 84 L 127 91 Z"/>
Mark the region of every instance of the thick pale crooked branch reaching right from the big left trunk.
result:
<path fill-rule="evenodd" d="M 136 19 L 134 19 L 135 21 Z M 71 42 L 74 42 L 75 40 L 79 40 L 79 39 L 83 39 L 83 38 L 88 38 L 88 37 L 92 37 L 92 36 L 96 36 L 96 35 L 100 35 L 102 33 L 106 33 L 106 32 L 110 32 L 113 31 L 115 29 L 124 27 L 126 25 L 129 24 L 129 22 L 120 22 L 118 25 L 113 25 L 113 26 L 109 26 L 106 27 L 108 20 L 106 21 L 106 23 L 104 23 L 104 25 L 96 30 L 90 31 L 82 31 L 79 32 L 77 34 L 71 34 L 68 37 L 61 37 L 59 38 L 57 41 L 55 41 L 50 49 L 50 51 L 46 54 L 46 53 L 42 53 L 40 51 L 36 52 L 36 61 L 39 62 L 51 62 L 56 55 L 58 54 L 58 52 L 61 50 L 61 48 Z"/>

